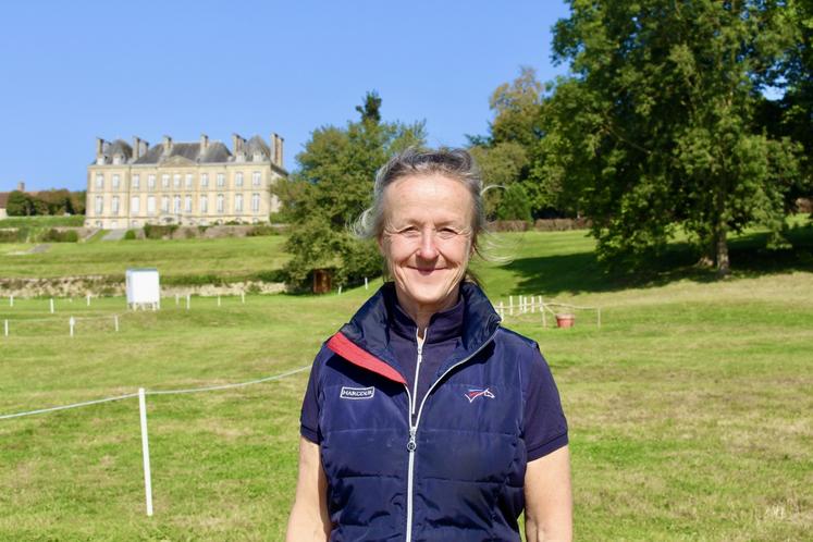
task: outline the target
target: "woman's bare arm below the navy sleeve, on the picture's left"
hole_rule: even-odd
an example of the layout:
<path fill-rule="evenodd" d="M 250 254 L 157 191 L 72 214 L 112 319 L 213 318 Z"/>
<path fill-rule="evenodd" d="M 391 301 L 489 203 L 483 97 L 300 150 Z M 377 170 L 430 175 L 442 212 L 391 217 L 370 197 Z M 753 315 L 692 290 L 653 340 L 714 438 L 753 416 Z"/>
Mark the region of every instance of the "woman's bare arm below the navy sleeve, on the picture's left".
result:
<path fill-rule="evenodd" d="M 322 469 L 319 444 L 299 438 L 299 477 L 296 498 L 288 518 L 287 542 L 324 542 L 330 537 L 328 480 Z"/>

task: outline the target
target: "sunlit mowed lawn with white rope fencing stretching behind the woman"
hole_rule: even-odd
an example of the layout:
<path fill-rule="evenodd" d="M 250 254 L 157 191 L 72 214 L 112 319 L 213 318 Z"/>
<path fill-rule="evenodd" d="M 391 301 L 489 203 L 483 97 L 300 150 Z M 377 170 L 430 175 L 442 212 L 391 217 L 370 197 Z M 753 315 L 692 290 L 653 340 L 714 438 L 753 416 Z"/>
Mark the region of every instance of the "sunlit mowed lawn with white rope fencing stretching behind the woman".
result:
<path fill-rule="evenodd" d="M 799 235 L 797 252 L 809 246 Z M 540 343 L 562 394 L 577 539 L 809 538 L 813 269 L 803 258 L 778 266 L 789 256 L 757 254 L 726 281 L 690 268 L 630 281 L 599 273 L 583 232 L 504 241 L 512 263 L 478 266 L 494 303 L 534 294 L 602 307 L 601 329 L 588 311 L 571 330 L 544 330 L 537 313 L 505 322 Z M 735 243 L 735 266 L 754 242 Z M 194 297 L 189 311 L 165 299 L 158 312 L 124 312 L 121 298 L 89 308 L 59 299 L 53 316 L 44 299 L 0 299 L 11 324 L 0 335 L 0 415 L 306 367 L 369 294 L 221 307 Z M 123 313 L 119 333 L 113 313 Z M 136 399 L 0 420 L 0 539 L 281 540 L 306 383 L 307 371 L 148 396 L 151 518 Z"/>

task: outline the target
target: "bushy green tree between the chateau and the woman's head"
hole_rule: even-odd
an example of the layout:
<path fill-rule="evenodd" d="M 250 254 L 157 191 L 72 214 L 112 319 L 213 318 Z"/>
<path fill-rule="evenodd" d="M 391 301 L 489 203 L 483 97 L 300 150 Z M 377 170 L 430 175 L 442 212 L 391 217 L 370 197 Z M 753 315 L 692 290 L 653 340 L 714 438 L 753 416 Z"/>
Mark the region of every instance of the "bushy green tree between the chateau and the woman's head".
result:
<path fill-rule="evenodd" d="M 296 157 L 298 171 L 274 188 L 290 223 L 292 259 L 284 271 L 295 286 L 307 286 L 315 269 L 334 269 L 340 285 L 383 269 L 375 244 L 356 239 L 348 226 L 372 201 L 375 171 L 394 153 L 422 145 L 424 130 L 423 123 L 381 122 L 380 107 L 381 98 L 369 93 L 356 108 L 358 121 L 313 131 Z"/>

